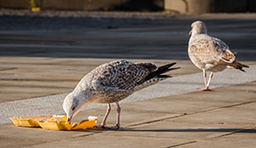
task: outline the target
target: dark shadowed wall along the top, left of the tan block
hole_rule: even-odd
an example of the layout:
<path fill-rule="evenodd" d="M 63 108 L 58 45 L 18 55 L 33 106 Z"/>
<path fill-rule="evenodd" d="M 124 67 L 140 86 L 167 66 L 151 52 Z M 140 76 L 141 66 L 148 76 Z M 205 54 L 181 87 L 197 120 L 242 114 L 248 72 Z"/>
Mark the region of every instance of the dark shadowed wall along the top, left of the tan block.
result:
<path fill-rule="evenodd" d="M 0 0 L 0 7 L 28 8 L 30 0 Z M 161 11 L 164 0 L 35 0 L 41 9 Z"/>

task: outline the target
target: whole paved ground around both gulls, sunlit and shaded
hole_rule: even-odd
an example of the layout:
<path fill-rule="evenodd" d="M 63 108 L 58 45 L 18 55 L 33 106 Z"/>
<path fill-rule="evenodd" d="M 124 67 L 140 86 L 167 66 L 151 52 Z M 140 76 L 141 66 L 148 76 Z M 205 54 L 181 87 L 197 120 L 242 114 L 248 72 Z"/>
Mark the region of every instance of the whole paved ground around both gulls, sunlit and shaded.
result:
<path fill-rule="evenodd" d="M 3 118 L 0 147 L 255 147 L 255 17 L 255 14 L 30 13 L 1 9 L 0 21 L 5 23 L 0 27 Z M 42 23 L 32 23 L 33 19 Z M 204 20 L 209 34 L 225 41 L 237 59 L 251 67 L 247 73 L 225 70 L 216 74 L 214 91 L 209 93 L 195 92 L 194 87 L 203 86 L 203 78 L 186 54 L 190 24 L 196 19 Z M 147 92 L 133 95 L 150 100 L 122 104 L 119 130 L 17 128 L 7 120 L 7 115 L 37 114 L 40 109 L 24 107 L 30 101 L 40 98 L 51 99 L 53 103 L 61 101 L 88 71 L 118 58 L 153 61 L 157 65 L 177 61 L 182 69 L 172 73 L 174 78 L 149 88 L 150 93 L 160 90 L 155 95 Z M 175 88 L 164 91 L 168 87 Z M 63 113 L 59 103 L 53 104 L 57 106 L 47 103 L 34 102 L 33 108 L 46 104 L 46 112 Z M 15 108 L 16 105 L 19 107 Z M 93 115 L 101 122 L 106 108 L 91 108 L 81 111 L 74 120 Z M 115 124 L 115 105 L 107 124 Z"/>

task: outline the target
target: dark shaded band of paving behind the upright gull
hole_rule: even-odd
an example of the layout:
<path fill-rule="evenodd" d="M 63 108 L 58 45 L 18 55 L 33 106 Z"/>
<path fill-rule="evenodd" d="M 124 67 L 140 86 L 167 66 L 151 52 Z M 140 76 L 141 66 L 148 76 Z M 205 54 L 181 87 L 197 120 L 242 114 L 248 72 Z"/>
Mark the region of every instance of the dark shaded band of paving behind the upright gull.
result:
<path fill-rule="evenodd" d="M 102 27 L 101 29 L 86 30 L 78 26 L 66 31 L 29 31 L 19 30 L 19 26 L 14 26 L 13 28 L 17 31 L 0 31 L 0 54 L 1 56 L 25 57 L 187 60 L 190 25 L 193 21 L 201 19 L 206 22 L 209 35 L 227 43 L 236 53 L 237 60 L 250 61 L 255 60 L 255 50 L 251 50 L 255 48 L 254 26 L 256 19 L 254 15 L 211 14 L 176 16 L 176 18 L 167 19 L 156 18 L 150 22 L 139 25 L 132 24 L 118 29 Z M 11 20 L 7 22 L 9 22 L 7 26 L 16 24 L 11 23 Z M 72 22 L 68 18 L 63 24 Z M 92 23 L 91 26 L 95 26 L 93 22 L 87 21 L 87 23 Z M 26 27 L 27 24 L 20 26 Z M 74 26 L 75 24 L 74 22 Z M 49 28 L 55 26 L 54 23 L 46 25 Z M 99 21 L 96 26 L 98 25 L 105 25 L 105 23 Z M 61 29 L 61 27 L 59 28 Z"/>

